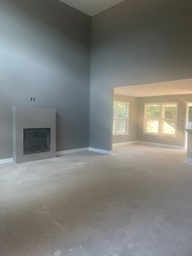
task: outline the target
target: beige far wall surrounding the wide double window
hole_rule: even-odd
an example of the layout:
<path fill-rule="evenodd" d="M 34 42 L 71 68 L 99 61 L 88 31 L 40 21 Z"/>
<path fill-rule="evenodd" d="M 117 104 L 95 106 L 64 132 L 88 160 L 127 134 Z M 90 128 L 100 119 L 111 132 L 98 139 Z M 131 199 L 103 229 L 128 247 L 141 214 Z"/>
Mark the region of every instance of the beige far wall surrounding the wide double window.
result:
<path fill-rule="evenodd" d="M 186 101 L 192 101 L 192 94 L 139 98 L 137 140 L 184 146 Z M 178 102 L 176 137 L 143 134 L 144 104 L 155 102 Z"/>

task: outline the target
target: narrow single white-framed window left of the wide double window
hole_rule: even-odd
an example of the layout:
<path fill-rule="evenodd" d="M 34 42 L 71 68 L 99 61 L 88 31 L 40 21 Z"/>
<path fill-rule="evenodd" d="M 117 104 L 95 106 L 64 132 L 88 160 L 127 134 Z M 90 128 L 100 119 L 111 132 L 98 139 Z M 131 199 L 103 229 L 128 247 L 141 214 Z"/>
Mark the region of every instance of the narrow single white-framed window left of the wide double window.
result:
<path fill-rule="evenodd" d="M 113 135 L 128 134 L 128 106 L 129 103 L 113 103 Z"/>

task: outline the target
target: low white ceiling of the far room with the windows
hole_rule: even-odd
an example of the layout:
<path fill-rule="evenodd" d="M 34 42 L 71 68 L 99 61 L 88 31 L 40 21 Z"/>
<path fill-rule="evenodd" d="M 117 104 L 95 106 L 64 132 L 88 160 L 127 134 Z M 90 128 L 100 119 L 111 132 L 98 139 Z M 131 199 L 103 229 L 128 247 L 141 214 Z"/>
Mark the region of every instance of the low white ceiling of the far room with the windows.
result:
<path fill-rule="evenodd" d="M 192 94 L 192 78 L 114 88 L 114 94 L 132 97 Z"/>

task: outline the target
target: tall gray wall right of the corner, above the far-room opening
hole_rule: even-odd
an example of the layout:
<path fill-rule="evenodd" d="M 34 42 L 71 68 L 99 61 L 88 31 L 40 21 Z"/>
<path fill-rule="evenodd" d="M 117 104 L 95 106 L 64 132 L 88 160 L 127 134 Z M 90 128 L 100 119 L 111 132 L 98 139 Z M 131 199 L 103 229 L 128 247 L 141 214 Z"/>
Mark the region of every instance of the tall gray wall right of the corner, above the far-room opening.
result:
<path fill-rule="evenodd" d="M 192 77 L 192 1 L 125 0 L 92 18 L 90 141 L 112 149 L 114 87 Z"/>

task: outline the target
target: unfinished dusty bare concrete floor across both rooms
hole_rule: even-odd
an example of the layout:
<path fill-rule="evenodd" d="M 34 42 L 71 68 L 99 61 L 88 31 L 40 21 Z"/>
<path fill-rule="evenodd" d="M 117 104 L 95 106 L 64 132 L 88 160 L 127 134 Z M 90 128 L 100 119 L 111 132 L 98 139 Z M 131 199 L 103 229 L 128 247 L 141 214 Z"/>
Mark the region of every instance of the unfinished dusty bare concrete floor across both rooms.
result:
<path fill-rule="evenodd" d="M 191 256 L 186 151 L 120 146 L 0 166 L 1 256 Z"/>

